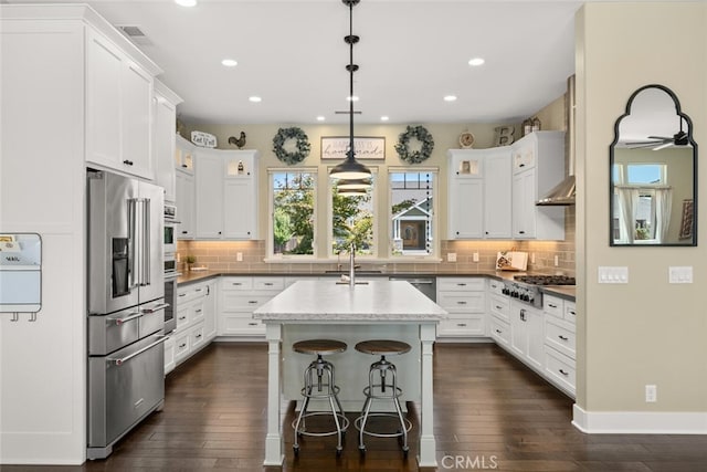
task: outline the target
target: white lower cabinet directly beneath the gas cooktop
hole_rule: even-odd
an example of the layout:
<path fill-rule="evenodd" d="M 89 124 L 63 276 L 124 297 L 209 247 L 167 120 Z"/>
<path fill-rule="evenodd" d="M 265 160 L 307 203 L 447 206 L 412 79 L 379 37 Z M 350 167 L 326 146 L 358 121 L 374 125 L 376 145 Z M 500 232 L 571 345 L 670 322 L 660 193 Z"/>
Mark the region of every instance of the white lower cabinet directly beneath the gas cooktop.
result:
<path fill-rule="evenodd" d="M 542 312 L 516 300 L 510 301 L 510 350 L 537 371 L 542 371 L 545 348 Z"/>

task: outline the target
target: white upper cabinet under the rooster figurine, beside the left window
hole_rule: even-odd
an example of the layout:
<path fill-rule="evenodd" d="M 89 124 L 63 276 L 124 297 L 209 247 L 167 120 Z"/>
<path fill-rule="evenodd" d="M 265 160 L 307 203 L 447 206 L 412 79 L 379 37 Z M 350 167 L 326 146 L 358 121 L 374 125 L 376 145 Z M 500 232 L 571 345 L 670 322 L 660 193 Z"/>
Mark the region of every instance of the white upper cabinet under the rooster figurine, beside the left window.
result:
<path fill-rule="evenodd" d="M 257 151 L 197 149 L 197 239 L 257 238 Z"/>

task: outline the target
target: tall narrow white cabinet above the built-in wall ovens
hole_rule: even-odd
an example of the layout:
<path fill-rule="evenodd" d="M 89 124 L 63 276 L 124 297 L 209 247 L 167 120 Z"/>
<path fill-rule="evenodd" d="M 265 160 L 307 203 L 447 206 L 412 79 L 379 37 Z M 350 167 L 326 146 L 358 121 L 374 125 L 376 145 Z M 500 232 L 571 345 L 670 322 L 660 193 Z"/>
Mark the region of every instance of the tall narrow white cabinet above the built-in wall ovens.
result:
<path fill-rule="evenodd" d="M 175 126 L 177 105 L 181 98 L 155 80 L 152 126 L 152 150 L 155 157 L 155 178 L 165 189 L 165 201 L 177 202 L 177 182 L 175 175 Z"/>

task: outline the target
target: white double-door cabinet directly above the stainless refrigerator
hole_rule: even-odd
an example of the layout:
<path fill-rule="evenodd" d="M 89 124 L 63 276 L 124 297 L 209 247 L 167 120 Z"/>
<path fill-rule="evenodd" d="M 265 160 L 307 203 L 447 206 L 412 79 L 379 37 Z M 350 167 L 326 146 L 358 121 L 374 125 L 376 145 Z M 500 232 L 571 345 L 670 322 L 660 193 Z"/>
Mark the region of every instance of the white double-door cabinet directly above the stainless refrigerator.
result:
<path fill-rule="evenodd" d="M 86 160 L 152 180 L 154 74 L 99 32 L 86 38 Z"/>

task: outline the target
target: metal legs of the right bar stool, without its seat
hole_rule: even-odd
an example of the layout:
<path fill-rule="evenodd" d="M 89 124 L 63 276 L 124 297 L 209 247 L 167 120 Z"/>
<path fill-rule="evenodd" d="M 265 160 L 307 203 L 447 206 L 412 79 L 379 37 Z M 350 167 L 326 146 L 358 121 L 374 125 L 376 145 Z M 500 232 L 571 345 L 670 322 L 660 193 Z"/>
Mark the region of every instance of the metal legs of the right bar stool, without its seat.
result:
<path fill-rule="evenodd" d="M 373 378 L 379 376 L 380 382 L 376 384 Z M 390 381 L 388 381 L 390 377 Z M 395 365 L 386 359 L 386 356 L 381 356 L 380 360 L 371 364 L 368 371 L 368 387 L 363 389 L 366 401 L 361 410 L 361 416 L 355 421 L 356 428 L 359 430 L 358 449 L 361 454 L 366 453 L 366 444 L 363 442 L 363 434 L 373 436 L 378 438 L 401 438 L 402 452 L 408 457 L 408 431 L 412 428 L 412 423 L 402 415 L 402 408 L 400 407 L 400 396 L 402 389 L 398 387 L 398 376 Z M 373 400 L 390 400 L 395 407 L 395 413 L 371 413 L 371 405 Z M 395 417 L 400 422 L 400 429 L 397 432 L 373 432 L 366 430 L 366 423 L 371 417 Z"/>

